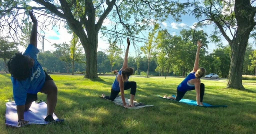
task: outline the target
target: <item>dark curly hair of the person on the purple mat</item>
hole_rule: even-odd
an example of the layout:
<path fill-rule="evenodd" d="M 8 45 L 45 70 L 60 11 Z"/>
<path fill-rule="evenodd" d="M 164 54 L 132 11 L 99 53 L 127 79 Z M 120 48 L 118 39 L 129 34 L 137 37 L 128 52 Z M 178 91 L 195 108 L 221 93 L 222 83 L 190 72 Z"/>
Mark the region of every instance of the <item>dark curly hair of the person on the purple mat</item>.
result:
<path fill-rule="evenodd" d="M 21 52 L 15 53 L 6 64 L 9 73 L 19 81 L 30 77 L 30 69 L 33 65 L 34 60 L 29 56 L 22 55 Z"/>

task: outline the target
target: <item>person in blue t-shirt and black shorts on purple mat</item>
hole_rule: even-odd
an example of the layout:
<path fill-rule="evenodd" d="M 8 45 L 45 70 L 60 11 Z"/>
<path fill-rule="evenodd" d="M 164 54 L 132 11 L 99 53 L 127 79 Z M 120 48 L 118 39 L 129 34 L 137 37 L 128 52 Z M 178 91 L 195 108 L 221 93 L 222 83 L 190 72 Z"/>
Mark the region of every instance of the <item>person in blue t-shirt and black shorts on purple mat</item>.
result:
<path fill-rule="evenodd" d="M 37 20 L 29 11 L 33 27 L 30 41 L 24 54 L 18 52 L 7 63 L 13 83 L 13 98 L 17 107 L 18 126 L 28 123 L 24 120 L 24 111 L 27 111 L 32 102 L 37 100 L 37 93 L 47 94 L 47 115 L 45 121 L 55 121 L 52 117 L 57 103 L 57 87 L 53 79 L 42 69 L 37 61 Z M 26 118 L 26 117 L 25 117 Z"/>

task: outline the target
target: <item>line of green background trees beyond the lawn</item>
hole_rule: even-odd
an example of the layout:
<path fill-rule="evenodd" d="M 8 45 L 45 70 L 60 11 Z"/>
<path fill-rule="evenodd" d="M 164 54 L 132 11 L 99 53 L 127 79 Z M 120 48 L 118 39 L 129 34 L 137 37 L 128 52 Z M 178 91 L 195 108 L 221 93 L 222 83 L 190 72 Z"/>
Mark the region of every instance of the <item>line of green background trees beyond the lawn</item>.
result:
<path fill-rule="evenodd" d="M 148 75 L 156 76 L 186 76 L 193 69 L 196 52 L 195 40 L 201 39 L 204 46 L 200 52 L 199 66 L 205 67 L 207 74 L 217 73 L 219 77 L 227 78 L 231 56 L 230 46 L 219 45 L 214 50 L 206 50 L 209 43 L 207 41 L 208 35 L 203 30 L 199 30 L 192 37 L 193 31 L 193 29 L 184 29 L 180 32 L 180 36 L 172 36 L 166 29 L 155 32 L 154 35 L 151 35 L 154 49 L 152 49 L 150 61 L 148 60 L 148 55 L 144 56 L 142 53 L 128 58 L 129 66 L 134 68 L 134 74 L 147 75 L 148 72 Z M 6 61 L 18 49 L 17 44 L 8 42 L 7 39 L 1 38 L 0 41 L 0 69 L 5 71 Z M 82 53 L 79 44 L 74 49 L 72 41 L 73 39 L 70 44 L 53 44 L 52 46 L 56 48 L 55 51 L 39 53 L 38 61 L 42 67 L 48 72 L 72 72 L 72 57 L 73 50 L 75 50 L 74 72 L 85 73 L 86 56 Z M 117 48 L 116 43 L 110 42 L 110 44 L 109 49 L 98 51 L 97 53 L 97 70 L 99 74 L 111 73 L 113 70 L 119 70 L 122 67 L 122 50 Z M 114 53 L 116 54 L 115 56 L 113 56 Z M 252 44 L 249 44 L 246 49 L 243 64 L 244 75 L 255 75 L 256 50 Z"/>

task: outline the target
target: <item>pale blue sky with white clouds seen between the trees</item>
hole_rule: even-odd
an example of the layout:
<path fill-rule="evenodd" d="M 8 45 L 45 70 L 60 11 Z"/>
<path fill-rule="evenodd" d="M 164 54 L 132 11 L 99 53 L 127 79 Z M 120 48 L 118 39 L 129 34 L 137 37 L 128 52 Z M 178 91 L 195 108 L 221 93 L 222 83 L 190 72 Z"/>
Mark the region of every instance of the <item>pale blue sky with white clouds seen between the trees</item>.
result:
<path fill-rule="evenodd" d="M 35 16 L 37 17 L 38 14 L 35 13 Z M 38 20 L 40 20 L 42 18 L 38 18 Z M 162 29 L 167 29 L 168 32 L 171 35 L 179 35 L 179 32 L 182 29 L 190 29 L 190 28 L 194 28 L 193 25 L 198 22 L 198 20 L 195 19 L 195 17 L 193 17 L 192 15 L 182 15 L 181 17 L 182 22 L 174 22 L 171 18 L 168 18 L 168 20 L 166 20 L 165 22 L 159 22 L 160 26 L 162 27 Z M 109 20 L 108 18 L 104 20 L 103 26 L 110 26 L 110 24 L 113 23 L 111 22 L 111 20 Z M 39 24 L 40 25 L 40 24 Z M 56 43 L 56 44 L 61 44 L 61 43 L 70 43 L 70 40 L 72 38 L 72 34 L 68 34 L 67 30 L 63 27 L 63 23 L 60 25 L 60 27 L 53 27 L 50 26 L 48 27 L 49 30 L 44 30 L 45 34 L 42 34 L 41 31 L 40 34 L 45 35 L 45 40 L 44 40 L 44 51 L 50 50 L 50 51 L 54 51 L 55 48 L 53 46 L 51 46 L 52 44 Z M 110 28 L 109 28 L 110 29 Z M 204 32 L 206 32 L 208 35 L 211 34 L 211 32 L 214 30 L 214 26 L 213 25 L 207 25 L 205 27 L 202 28 L 198 28 L 197 30 L 201 30 L 203 29 Z M 145 31 L 146 33 L 146 31 Z M 109 47 L 109 43 L 108 43 L 108 39 L 106 37 L 100 38 L 102 36 L 101 32 L 99 32 L 98 34 L 98 51 L 104 51 L 106 53 L 106 49 Z M 147 35 L 145 35 L 147 36 Z M 141 37 L 141 38 L 146 38 L 143 37 L 142 35 L 136 35 L 136 37 Z M 226 41 L 225 38 L 222 37 L 222 43 L 224 45 L 228 44 L 228 42 Z M 209 40 L 208 40 L 209 41 Z M 253 39 L 250 38 L 249 39 L 249 43 L 253 43 Z M 210 41 L 209 41 L 210 42 Z M 124 45 L 120 45 L 123 52 L 126 49 L 126 40 L 124 40 L 123 42 Z M 133 41 L 131 40 L 131 44 L 133 44 Z M 142 46 L 144 45 L 144 43 L 137 43 L 136 45 L 138 46 Z M 38 40 L 38 49 L 41 49 L 42 45 L 40 40 Z M 216 46 L 213 43 L 209 43 L 208 44 L 208 51 L 211 53 L 213 49 L 215 49 Z M 23 47 L 19 47 L 20 51 L 25 51 L 25 48 Z M 136 52 L 134 51 L 134 47 L 133 45 L 130 46 L 130 50 L 129 50 L 129 56 L 135 56 Z M 124 56 L 124 53 L 122 54 L 122 57 Z M 142 55 L 143 56 L 143 55 Z"/>

